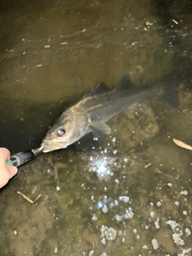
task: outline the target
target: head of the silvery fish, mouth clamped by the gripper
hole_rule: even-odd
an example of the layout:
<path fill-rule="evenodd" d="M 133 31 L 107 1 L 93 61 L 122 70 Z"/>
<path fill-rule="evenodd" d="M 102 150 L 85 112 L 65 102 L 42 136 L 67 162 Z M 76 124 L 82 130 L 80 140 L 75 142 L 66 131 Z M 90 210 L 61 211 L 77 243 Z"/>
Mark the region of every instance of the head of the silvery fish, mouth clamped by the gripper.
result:
<path fill-rule="evenodd" d="M 86 117 L 78 114 L 66 115 L 58 118 L 42 139 L 42 152 L 65 149 L 70 144 L 78 141 L 86 134 L 88 129 Z"/>

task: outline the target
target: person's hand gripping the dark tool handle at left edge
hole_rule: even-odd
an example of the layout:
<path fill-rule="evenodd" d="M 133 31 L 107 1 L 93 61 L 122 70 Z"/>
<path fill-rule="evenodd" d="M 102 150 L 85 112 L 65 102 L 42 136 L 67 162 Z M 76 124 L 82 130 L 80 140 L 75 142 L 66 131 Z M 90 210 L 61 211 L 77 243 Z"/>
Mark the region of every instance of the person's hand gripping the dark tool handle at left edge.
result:
<path fill-rule="evenodd" d="M 0 189 L 9 182 L 10 178 L 18 173 L 18 168 L 8 166 L 6 159 L 10 159 L 10 151 L 4 147 L 0 147 Z"/>

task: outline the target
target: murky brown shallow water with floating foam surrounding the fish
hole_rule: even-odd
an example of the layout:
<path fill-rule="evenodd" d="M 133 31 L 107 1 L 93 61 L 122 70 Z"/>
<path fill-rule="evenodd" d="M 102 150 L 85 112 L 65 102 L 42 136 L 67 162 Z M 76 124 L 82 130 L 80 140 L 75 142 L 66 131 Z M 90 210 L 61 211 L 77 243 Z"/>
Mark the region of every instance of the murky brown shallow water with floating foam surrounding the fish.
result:
<path fill-rule="evenodd" d="M 142 86 L 182 70 L 179 106 L 159 98 L 21 166 L 0 191 L 1 255 L 182 255 L 191 251 L 190 2 L 1 1 L 0 134 L 38 147 L 98 82 Z M 34 201 L 22 198 L 21 192 Z"/>

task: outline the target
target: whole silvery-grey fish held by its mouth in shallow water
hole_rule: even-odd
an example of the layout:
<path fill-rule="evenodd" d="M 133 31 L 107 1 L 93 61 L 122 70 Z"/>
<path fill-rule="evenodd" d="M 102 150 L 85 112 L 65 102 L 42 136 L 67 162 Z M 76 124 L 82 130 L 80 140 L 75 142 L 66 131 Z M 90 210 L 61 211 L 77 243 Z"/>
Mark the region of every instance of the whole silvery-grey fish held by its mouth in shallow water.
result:
<path fill-rule="evenodd" d="M 174 101 L 171 102 L 170 95 L 175 95 L 173 91 L 177 86 L 174 82 L 177 80 L 179 85 L 180 80 L 172 82 L 171 78 L 168 76 L 164 86 L 158 82 L 154 86 L 136 87 L 129 76 L 124 75 L 113 89 L 108 88 L 105 82 L 99 82 L 56 119 L 42 139 L 42 152 L 65 149 L 90 132 L 94 137 L 98 133 L 110 134 L 110 126 L 106 122 L 123 110 L 137 108 L 145 99 L 161 96 L 171 105 L 177 105 L 177 97 L 172 97 Z"/>

